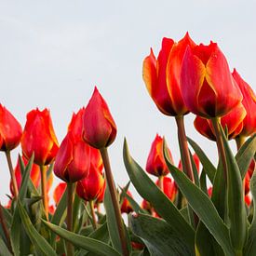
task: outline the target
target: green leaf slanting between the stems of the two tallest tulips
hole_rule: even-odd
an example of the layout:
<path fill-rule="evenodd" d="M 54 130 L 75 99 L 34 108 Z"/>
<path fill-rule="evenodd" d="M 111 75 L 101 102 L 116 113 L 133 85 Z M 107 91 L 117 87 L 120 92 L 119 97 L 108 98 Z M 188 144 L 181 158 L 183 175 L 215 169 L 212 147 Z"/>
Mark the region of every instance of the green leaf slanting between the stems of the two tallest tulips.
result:
<path fill-rule="evenodd" d="M 208 156 L 203 152 L 203 150 L 198 146 L 198 144 L 195 143 L 195 141 L 193 141 L 190 138 L 187 138 L 187 141 L 194 149 L 195 154 L 199 157 L 200 162 L 202 163 L 202 166 L 209 177 L 209 181 L 213 184 L 216 168 L 212 165 L 212 163 L 209 161 Z"/>

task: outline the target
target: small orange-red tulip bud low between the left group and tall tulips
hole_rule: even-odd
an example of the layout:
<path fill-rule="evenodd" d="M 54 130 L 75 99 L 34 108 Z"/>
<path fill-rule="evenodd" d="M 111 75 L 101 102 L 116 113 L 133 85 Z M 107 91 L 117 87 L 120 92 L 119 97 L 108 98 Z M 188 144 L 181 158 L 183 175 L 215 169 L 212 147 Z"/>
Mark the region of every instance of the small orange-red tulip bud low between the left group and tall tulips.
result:
<path fill-rule="evenodd" d="M 163 138 L 156 134 L 147 159 L 146 171 L 156 177 L 164 176 L 169 173 L 168 166 L 163 155 L 163 142 Z M 168 155 L 172 160 L 169 150 Z"/>

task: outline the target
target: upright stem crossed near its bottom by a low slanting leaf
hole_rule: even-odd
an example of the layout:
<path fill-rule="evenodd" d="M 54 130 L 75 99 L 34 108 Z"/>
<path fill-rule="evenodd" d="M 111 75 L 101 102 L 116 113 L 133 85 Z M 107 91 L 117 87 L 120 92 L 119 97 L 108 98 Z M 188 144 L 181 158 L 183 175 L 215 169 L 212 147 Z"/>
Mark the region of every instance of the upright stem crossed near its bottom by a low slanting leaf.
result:
<path fill-rule="evenodd" d="M 74 203 L 74 183 L 67 182 L 67 230 L 73 231 L 73 203 Z M 70 242 L 66 242 L 67 256 L 74 255 L 74 246 Z"/>

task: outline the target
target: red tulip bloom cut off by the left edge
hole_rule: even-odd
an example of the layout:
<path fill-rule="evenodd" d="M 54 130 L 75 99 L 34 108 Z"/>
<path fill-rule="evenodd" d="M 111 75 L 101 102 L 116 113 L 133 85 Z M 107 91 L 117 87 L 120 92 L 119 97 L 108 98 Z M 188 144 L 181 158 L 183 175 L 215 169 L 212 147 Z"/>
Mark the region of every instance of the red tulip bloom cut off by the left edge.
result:
<path fill-rule="evenodd" d="M 10 151 L 21 140 L 22 128 L 17 119 L 0 104 L 0 150 Z"/>

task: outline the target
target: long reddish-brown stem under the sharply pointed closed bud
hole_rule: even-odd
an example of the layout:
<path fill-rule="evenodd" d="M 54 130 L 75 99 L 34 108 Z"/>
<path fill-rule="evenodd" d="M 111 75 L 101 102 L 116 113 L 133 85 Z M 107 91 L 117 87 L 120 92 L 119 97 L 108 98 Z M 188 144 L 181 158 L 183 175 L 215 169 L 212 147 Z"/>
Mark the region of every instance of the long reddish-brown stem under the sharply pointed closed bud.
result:
<path fill-rule="evenodd" d="M 128 247 L 126 242 L 125 229 L 122 222 L 121 210 L 119 208 L 119 204 L 117 201 L 115 182 L 114 182 L 114 178 L 113 178 L 111 167 L 110 167 L 108 151 L 107 151 L 107 148 L 105 147 L 101 148 L 100 151 L 101 151 L 103 165 L 105 168 L 105 174 L 106 174 L 107 184 L 108 184 L 108 188 L 109 188 L 111 199 L 112 199 L 112 204 L 115 210 L 115 219 L 118 227 L 118 233 L 120 237 L 123 255 L 128 256 Z"/>

